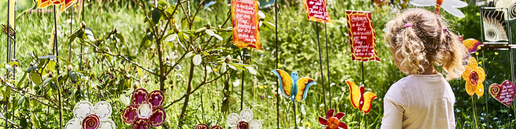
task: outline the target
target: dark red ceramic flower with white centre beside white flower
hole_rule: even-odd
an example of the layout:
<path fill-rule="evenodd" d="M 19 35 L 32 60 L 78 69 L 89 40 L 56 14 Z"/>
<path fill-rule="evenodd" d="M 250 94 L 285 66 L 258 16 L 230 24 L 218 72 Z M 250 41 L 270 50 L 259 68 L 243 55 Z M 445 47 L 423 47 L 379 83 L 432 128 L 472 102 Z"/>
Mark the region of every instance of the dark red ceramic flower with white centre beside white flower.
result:
<path fill-rule="evenodd" d="M 150 126 L 157 127 L 163 124 L 167 115 L 161 108 L 165 101 L 162 91 L 140 88 L 133 92 L 131 105 L 125 107 L 122 119 L 125 123 L 133 124 L 133 128 L 147 129 Z"/>

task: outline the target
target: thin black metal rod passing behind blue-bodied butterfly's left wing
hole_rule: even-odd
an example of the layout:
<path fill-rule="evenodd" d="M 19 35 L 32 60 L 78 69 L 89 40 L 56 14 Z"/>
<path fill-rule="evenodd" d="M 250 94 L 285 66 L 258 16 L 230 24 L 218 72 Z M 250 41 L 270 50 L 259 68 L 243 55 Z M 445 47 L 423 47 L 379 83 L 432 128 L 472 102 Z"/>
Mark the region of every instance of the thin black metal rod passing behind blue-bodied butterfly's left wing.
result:
<path fill-rule="evenodd" d="M 276 57 L 276 69 L 278 69 L 278 0 L 274 1 L 274 17 L 275 17 L 275 30 L 276 30 L 276 51 L 274 52 Z M 279 85 L 279 79 L 276 80 L 276 84 Z M 276 87 L 276 126 L 280 129 L 280 88 Z"/>

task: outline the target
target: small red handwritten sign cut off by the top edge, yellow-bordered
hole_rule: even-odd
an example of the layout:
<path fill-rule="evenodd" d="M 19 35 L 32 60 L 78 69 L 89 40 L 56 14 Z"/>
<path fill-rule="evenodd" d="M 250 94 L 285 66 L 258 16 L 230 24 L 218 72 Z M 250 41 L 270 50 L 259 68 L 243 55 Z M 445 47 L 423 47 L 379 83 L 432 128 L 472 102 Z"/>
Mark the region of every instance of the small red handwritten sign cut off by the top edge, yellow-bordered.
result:
<path fill-rule="evenodd" d="M 331 19 L 326 9 L 326 0 L 303 0 L 307 19 L 310 21 L 330 23 Z"/>

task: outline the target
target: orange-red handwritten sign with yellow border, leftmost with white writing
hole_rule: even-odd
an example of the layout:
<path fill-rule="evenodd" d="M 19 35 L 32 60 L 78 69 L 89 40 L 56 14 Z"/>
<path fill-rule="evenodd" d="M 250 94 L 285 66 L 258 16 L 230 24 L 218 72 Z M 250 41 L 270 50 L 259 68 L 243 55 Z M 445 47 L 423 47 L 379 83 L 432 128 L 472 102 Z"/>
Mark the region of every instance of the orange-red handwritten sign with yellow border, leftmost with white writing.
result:
<path fill-rule="evenodd" d="M 233 44 L 261 50 L 257 0 L 231 0 Z"/>

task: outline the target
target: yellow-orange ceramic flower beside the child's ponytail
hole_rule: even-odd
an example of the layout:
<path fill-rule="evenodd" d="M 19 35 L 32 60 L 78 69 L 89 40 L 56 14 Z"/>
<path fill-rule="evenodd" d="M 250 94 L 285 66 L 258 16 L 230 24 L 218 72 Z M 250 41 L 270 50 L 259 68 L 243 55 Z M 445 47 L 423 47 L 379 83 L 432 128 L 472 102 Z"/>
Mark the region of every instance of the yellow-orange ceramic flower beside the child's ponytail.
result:
<path fill-rule="evenodd" d="M 482 96 L 484 92 L 483 80 L 486 79 L 486 73 L 482 67 L 478 67 L 477 59 L 471 57 L 467 61 L 467 65 L 464 66 L 464 74 L 462 78 L 466 80 L 466 92 L 469 95 L 477 93 L 478 96 Z"/>

